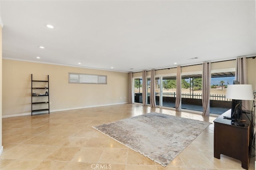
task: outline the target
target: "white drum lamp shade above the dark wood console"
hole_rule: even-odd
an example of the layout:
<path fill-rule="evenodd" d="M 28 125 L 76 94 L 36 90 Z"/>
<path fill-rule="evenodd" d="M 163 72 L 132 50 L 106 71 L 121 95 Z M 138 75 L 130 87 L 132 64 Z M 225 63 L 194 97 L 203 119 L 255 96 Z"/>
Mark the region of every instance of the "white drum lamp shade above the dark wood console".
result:
<path fill-rule="evenodd" d="M 252 85 L 228 85 L 227 99 L 253 100 Z"/>

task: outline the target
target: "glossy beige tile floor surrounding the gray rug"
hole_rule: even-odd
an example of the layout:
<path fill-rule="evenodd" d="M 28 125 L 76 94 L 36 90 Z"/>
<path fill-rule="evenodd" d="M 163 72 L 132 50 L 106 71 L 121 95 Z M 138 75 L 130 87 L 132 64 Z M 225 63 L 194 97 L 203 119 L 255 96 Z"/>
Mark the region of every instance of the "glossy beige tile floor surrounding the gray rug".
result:
<path fill-rule="evenodd" d="M 140 155 L 93 129 L 120 119 L 150 112 L 209 121 L 195 113 L 142 105 L 113 105 L 2 119 L 1 170 L 242 170 L 241 162 L 214 158 L 214 125 L 210 125 L 167 167 Z M 255 157 L 250 160 L 254 170 Z"/>

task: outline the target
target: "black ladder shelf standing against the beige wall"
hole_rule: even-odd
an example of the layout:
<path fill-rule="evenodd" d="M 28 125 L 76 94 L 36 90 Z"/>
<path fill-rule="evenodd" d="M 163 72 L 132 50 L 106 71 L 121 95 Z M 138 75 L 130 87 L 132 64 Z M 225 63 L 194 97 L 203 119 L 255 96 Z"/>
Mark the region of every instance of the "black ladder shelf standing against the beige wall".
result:
<path fill-rule="evenodd" d="M 35 82 L 35 83 L 33 83 Z M 37 82 L 37 83 L 36 83 Z M 38 83 L 41 82 L 41 83 Z M 46 83 L 45 87 L 42 87 L 42 85 Z M 39 87 L 38 87 L 39 86 Z M 41 87 L 40 87 L 41 86 Z M 47 91 L 44 93 L 38 93 L 45 89 Z M 37 92 L 37 93 L 36 93 Z M 37 100 L 37 102 L 34 102 L 34 98 L 42 97 Z M 38 105 L 44 105 L 47 104 L 47 108 L 44 109 L 33 109 L 33 106 Z M 33 115 L 33 112 L 41 112 L 41 111 L 48 111 L 48 114 L 50 114 L 50 102 L 49 102 L 49 75 L 47 75 L 47 80 L 33 80 L 33 74 L 31 74 L 31 116 Z"/>

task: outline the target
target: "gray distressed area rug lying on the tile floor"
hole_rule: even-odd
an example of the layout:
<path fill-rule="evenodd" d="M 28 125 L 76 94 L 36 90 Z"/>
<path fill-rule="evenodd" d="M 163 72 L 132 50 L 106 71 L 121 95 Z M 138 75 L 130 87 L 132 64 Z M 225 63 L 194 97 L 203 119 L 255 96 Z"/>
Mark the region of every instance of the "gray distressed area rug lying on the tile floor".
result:
<path fill-rule="evenodd" d="M 132 150 L 167 166 L 211 123 L 147 113 L 95 126 Z"/>

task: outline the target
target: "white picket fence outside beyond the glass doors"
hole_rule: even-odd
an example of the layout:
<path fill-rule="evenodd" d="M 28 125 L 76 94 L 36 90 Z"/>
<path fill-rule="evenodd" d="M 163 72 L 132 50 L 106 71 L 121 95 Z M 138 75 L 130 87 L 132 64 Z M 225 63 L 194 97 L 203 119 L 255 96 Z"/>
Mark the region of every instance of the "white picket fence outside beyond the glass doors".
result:
<path fill-rule="evenodd" d="M 150 96 L 150 93 L 148 93 L 148 96 Z M 160 96 L 160 93 L 156 93 L 156 96 Z M 176 97 L 175 92 L 170 93 L 163 93 L 163 97 Z M 181 93 L 182 98 L 190 98 L 190 99 L 202 99 L 201 93 Z M 231 99 L 226 99 L 226 95 L 220 95 L 220 94 L 210 94 L 210 100 L 218 100 L 218 101 L 231 101 Z"/>

